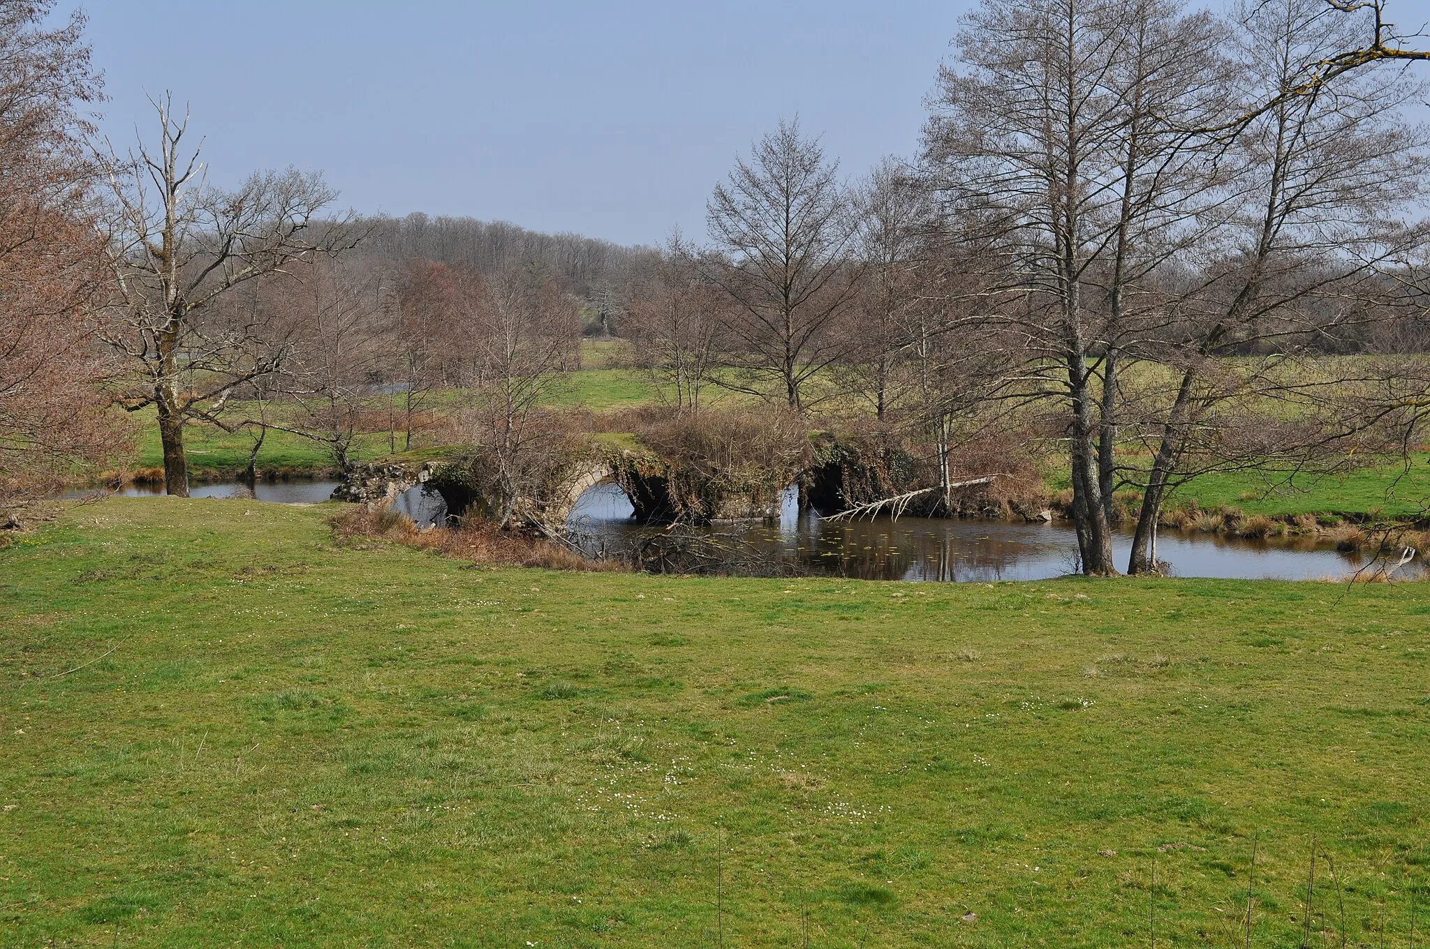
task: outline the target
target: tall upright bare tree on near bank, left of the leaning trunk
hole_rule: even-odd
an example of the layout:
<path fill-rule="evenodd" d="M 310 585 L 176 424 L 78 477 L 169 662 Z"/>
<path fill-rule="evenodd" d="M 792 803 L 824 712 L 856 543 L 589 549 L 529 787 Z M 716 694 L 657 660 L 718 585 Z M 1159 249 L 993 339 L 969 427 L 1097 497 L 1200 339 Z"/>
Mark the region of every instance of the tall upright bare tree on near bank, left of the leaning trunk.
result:
<path fill-rule="evenodd" d="M 1002 319 L 1067 404 L 1083 569 L 1115 573 L 1097 476 L 1097 366 L 1105 320 L 1090 272 L 1105 260 L 1127 121 L 1118 67 L 1128 0 L 990 0 L 955 40 L 925 159 L 944 200 L 1002 256 Z"/>

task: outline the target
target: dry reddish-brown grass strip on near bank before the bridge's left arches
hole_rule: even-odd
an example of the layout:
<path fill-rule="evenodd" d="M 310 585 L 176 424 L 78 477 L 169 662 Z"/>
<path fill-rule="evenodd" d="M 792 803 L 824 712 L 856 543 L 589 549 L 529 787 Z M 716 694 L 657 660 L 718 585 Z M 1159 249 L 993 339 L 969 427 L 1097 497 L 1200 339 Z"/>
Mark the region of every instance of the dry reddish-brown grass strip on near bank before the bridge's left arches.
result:
<path fill-rule="evenodd" d="M 613 560 L 591 560 L 569 547 L 519 530 L 498 530 L 486 522 L 459 527 L 419 529 L 406 515 L 353 505 L 332 517 L 333 530 L 345 542 L 378 540 L 406 547 L 438 550 L 443 556 L 472 563 L 548 570 L 605 570 L 625 567 Z"/>

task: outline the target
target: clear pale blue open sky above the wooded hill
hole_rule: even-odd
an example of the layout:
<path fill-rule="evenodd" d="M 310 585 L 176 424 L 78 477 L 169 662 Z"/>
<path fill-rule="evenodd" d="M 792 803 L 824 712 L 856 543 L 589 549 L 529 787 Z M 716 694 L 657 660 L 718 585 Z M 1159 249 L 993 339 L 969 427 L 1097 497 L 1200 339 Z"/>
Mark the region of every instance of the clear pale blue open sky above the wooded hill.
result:
<path fill-rule="evenodd" d="M 845 174 L 909 154 L 968 0 L 61 0 L 104 131 L 193 109 L 219 183 L 322 169 L 359 212 L 622 243 L 705 233 L 736 151 L 798 114 Z"/>

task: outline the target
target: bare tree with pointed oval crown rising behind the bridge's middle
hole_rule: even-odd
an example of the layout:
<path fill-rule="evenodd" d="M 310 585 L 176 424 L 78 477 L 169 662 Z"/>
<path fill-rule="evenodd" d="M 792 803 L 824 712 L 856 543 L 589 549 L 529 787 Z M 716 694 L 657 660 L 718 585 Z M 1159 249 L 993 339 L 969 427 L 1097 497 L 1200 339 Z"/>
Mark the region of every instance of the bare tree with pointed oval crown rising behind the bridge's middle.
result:
<path fill-rule="evenodd" d="M 715 254 L 704 272 L 726 297 L 724 316 L 741 384 L 769 394 L 775 384 L 795 409 L 817 397 L 808 389 L 844 352 L 832 326 L 854 296 L 847 252 L 854 237 L 837 166 L 798 121 L 781 121 L 761 139 L 749 162 L 738 159 L 729 180 L 706 206 Z"/>

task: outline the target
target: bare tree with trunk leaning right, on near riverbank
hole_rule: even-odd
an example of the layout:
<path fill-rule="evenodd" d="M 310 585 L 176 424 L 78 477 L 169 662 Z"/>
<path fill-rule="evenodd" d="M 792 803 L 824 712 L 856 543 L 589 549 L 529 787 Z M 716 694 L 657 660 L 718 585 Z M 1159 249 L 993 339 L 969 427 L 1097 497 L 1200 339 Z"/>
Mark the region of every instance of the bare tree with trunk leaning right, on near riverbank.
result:
<path fill-rule="evenodd" d="M 1403 272 L 1427 239 L 1400 220 L 1430 189 L 1424 134 L 1399 114 L 1420 89 L 1341 74 L 1320 96 L 1281 97 L 1344 47 L 1348 24 L 1326 17 L 1323 0 L 1276 0 L 1248 4 L 1240 27 L 1240 70 L 1254 80 L 1247 101 L 1278 101 L 1224 156 L 1236 166 L 1238 213 L 1204 242 L 1187 319 L 1163 349 L 1175 374 L 1150 432 L 1150 470 L 1131 476 L 1143 489 L 1134 573 L 1157 569 L 1157 522 L 1178 482 L 1253 459 L 1270 464 L 1276 454 L 1301 464 L 1307 452 L 1356 430 L 1353 413 L 1288 429 L 1237 406 L 1293 403 L 1307 419 L 1327 414 L 1333 393 L 1364 369 L 1313 372 L 1297 356 L 1324 352 L 1357 323 L 1379 319 L 1383 274 Z M 1241 363 L 1227 364 L 1231 354 Z M 1234 436 L 1238 426 L 1247 437 Z M 1280 443 L 1268 437 L 1277 432 Z"/>

